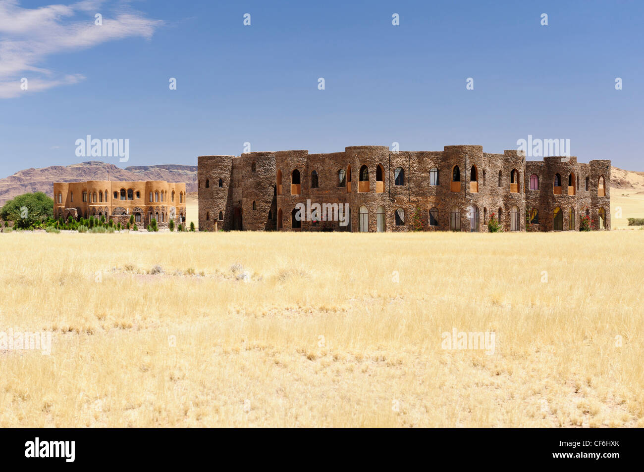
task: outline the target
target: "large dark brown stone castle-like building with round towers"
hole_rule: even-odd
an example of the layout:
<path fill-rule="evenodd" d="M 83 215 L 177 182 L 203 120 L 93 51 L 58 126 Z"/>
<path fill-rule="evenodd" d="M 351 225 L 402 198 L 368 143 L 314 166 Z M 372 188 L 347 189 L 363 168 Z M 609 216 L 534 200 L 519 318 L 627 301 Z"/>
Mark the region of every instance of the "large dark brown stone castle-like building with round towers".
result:
<path fill-rule="evenodd" d="M 491 217 L 505 231 L 573 231 L 586 216 L 609 230 L 610 188 L 609 160 L 526 161 L 516 150 L 489 154 L 469 145 L 198 158 L 202 231 L 488 231 Z M 323 210 L 308 211 L 316 203 Z M 340 216 L 347 209 L 346 226 L 331 217 L 334 208 Z"/>

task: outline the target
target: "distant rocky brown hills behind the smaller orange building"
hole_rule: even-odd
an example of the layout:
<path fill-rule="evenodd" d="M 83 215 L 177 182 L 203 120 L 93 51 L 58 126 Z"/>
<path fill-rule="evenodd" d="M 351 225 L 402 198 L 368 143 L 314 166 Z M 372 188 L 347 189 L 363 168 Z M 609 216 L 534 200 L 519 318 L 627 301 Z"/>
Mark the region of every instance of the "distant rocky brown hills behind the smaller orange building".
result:
<path fill-rule="evenodd" d="M 126 168 L 101 161 L 85 161 L 80 164 L 52 165 L 43 168 L 28 168 L 13 176 L 0 179 L 0 205 L 16 195 L 27 192 L 44 192 L 53 197 L 54 182 L 84 182 L 87 180 L 165 180 L 185 182 L 186 192 L 197 190 L 196 165 L 139 165 Z"/>

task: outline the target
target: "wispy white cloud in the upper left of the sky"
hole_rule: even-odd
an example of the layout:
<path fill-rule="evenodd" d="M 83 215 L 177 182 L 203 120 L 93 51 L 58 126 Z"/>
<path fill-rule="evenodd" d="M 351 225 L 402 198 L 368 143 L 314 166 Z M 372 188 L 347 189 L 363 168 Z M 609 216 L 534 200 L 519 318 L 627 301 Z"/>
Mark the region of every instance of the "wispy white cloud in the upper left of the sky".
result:
<path fill-rule="evenodd" d="M 18 0 L 0 0 L 0 98 L 76 84 L 78 71 L 62 73 L 39 67 L 46 57 L 92 48 L 127 37 L 152 37 L 163 22 L 145 17 L 128 3 L 106 6 L 102 0 L 82 0 L 71 5 L 23 8 Z M 102 25 L 95 24 L 95 14 Z M 21 78 L 28 78 L 28 90 Z"/>

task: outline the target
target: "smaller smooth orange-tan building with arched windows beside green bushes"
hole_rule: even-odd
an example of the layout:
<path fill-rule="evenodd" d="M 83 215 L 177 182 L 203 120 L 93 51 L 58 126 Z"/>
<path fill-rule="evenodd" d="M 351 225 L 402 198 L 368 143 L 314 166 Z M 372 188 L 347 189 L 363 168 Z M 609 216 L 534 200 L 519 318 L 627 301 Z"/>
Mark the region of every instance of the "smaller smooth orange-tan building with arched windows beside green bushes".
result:
<path fill-rule="evenodd" d="M 87 181 L 53 184 L 53 216 L 68 219 L 104 216 L 126 224 L 134 215 L 137 226 L 155 218 L 157 226 L 185 224 L 185 183 L 166 181 Z"/>

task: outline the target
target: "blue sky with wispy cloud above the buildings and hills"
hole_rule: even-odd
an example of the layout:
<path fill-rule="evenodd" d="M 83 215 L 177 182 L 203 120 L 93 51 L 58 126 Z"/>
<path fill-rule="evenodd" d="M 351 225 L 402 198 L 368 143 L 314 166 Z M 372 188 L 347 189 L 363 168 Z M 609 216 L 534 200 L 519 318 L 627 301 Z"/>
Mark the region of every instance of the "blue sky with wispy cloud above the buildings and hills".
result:
<path fill-rule="evenodd" d="M 644 170 L 644 2 L 305 4 L 0 0 L 0 176 L 91 160 L 86 134 L 129 139 L 127 163 L 96 158 L 119 167 L 532 134 Z"/>

